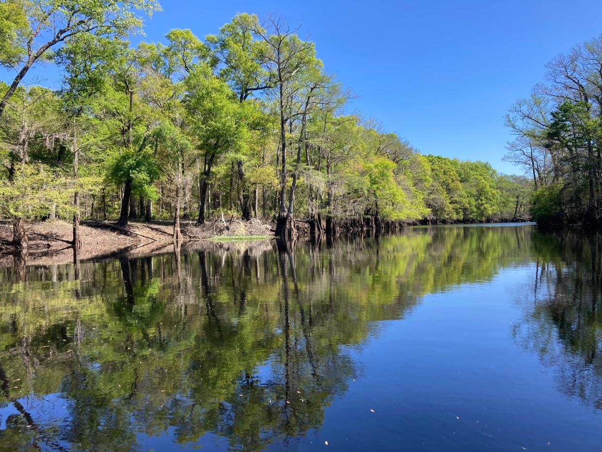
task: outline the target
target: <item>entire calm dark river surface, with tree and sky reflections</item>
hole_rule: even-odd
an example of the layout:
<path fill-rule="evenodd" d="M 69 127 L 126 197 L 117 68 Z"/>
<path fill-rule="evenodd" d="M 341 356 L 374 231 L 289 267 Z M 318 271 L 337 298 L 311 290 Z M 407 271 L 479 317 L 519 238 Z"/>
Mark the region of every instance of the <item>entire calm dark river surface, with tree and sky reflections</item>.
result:
<path fill-rule="evenodd" d="M 0 268 L 0 449 L 601 450 L 601 251 L 424 227 Z"/>

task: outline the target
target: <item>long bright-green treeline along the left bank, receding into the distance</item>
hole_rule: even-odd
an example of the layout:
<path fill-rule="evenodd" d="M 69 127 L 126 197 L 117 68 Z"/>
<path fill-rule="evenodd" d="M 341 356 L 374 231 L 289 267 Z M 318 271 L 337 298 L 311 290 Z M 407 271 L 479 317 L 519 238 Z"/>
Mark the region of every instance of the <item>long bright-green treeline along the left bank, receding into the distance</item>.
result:
<path fill-rule="evenodd" d="M 152 0 L 138 10 L 158 9 Z M 280 17 L 239 14 L 199 39 L 128 37 L 142 21 L 118 1 L 0 4 L 0 216 L 26 246 L 25 222 L 212 215 L 276 221 L 276 235 L 403 222 L 529 218 L 530 184 L 488 163 L 421 155 L 374 121 Z M 58 30 L 58 31 L 57 31 Z M 52 61 L 61 88 L 23 86 Z"/>

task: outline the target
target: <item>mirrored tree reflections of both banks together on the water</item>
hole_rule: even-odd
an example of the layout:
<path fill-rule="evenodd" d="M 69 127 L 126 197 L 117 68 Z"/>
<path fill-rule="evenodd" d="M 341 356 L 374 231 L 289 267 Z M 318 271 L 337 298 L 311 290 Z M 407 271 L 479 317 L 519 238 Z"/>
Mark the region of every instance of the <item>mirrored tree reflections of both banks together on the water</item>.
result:
<path fill-rule="evenodd" d="M 600 409 L 599 261 L 597 239 L 533 227 L 18 261 L 0 269 L 0 444 L 130 450 L 212 434 L 245 450 L 286 445 L 361 376 L 350 350 L 379 322 L 515 267 L 534 270 L 515 341 Z"/>

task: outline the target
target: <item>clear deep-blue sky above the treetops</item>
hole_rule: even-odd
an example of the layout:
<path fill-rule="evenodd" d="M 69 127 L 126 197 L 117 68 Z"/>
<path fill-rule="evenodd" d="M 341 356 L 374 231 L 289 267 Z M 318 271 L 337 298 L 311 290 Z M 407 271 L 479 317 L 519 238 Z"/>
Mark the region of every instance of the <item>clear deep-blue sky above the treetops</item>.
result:
<path fill-rule="evenodd" d="M 302 25 L 300 36 L 316 43 L 326 70 L 356 93 L 353 108 L 425 154 L 485 160 L 506 173 L 520 170 L 501 162 L 512 139 L 504 113 L 544 81 L 547 61 L 602 33 L 599 0 L 161 5 L 163 11 L 146 21 L 142 39 L 162 40 L 172 28 L 190 28 L 202 37 L 240 12 L 282 14 L 291 25 Z M 0 78 L 10 74 L 0 70 Z M 57 73 L 45 68 L 25 81 L 34 79 L 52 85 Z"/>

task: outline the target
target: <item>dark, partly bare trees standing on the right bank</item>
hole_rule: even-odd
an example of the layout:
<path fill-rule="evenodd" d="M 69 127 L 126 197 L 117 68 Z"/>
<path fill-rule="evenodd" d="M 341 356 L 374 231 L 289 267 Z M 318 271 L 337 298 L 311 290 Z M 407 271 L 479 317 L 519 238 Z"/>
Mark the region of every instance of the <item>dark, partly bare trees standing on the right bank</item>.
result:
<path fill-rule="evenodd" d="M 544 225 L 602 226 L 602 36 L 547 64 L 547 81 L 510 108 L 506 160 L 532 179 Z"/>

